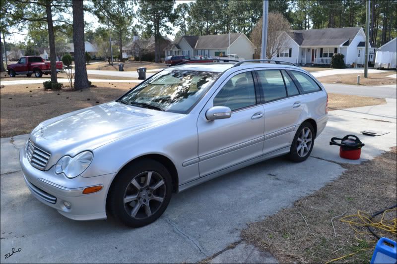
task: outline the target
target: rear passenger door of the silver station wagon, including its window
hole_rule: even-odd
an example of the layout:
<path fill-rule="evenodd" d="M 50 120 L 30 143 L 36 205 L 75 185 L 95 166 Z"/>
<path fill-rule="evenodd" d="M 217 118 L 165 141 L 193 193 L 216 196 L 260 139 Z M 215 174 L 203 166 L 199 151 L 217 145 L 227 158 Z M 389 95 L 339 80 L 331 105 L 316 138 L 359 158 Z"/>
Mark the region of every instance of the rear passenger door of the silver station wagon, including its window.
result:
<path fill-rule="evenodd" d="M 282 69 L 257 70 L 265 109 L 264 154 L 289 148 L 302 112 L 301 93 Z"/>

